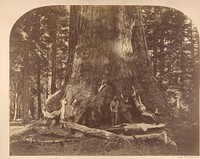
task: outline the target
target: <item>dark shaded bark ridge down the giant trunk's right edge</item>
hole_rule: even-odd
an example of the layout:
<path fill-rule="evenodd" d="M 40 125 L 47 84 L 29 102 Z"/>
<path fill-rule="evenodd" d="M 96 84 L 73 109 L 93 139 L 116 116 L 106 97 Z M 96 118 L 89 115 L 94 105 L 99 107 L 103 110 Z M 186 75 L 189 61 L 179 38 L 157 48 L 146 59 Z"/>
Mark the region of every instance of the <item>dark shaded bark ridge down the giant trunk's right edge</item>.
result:
<path fill-rule="evenodd" d="M 155 108 L 159 108 L 166 113 L 170 111 L 170 108 L 163 97 L 162 92 L 157 88 L 153 78 L 153 70 L 148 56 L 140 6 L 136 7 L 134 15 L 136 23 L 133 27 L 132 45 L 137 59 L 137 61 L 135 61 L 135 66 L 137 68 L 135 72 L 139 84 L 141 99 L 147 106 L 147 109 L 155 111 Z"/>

